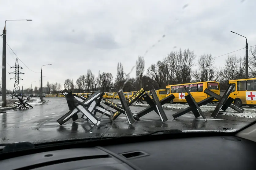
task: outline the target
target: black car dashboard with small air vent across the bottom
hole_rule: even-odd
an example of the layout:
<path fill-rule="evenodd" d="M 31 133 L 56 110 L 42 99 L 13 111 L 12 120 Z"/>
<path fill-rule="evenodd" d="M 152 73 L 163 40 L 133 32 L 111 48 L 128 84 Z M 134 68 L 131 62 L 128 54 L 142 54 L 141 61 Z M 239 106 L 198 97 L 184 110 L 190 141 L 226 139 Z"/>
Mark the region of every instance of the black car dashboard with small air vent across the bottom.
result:
<path fill-rule="evenodd" d="M 1 169 L 255 169 L 256 144 L 235 136 L 109 140 L 63 145 L 54 150 L 1 158 Z M 109 144 L 111 143 L 111 144 Z M 3 155 L 4 156 L 4 155 Z"/>

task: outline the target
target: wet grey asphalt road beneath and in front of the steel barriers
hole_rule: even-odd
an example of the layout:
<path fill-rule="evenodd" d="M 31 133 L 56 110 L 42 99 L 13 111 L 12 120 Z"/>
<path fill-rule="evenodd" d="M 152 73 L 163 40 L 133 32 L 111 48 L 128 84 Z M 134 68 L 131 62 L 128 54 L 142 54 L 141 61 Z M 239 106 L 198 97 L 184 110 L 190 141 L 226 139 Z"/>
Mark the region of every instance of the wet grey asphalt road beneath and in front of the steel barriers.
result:
<path fill-rule="evenodd" d="M 124 114 L 120 115 L 115 122 L 110 122 L 107 116 L 102 116 L 99 126 L 94 126 L 91 122 L 79 119 L 76 122 L 67 121 L 60 126 L 56 120 L 69 111 L 65 98 L 45 98 L 46 103 L 35 106 L 29 110 L 10 110 L 0 114 L 0 141 L 1 143 L 11 143 L 19 141 L 52 141 L 73 138 L 99 137 L 107 129 L 104 136 L 128 136 L 142 133 L 154 132 L 156 130 L 180 129 L 180 130 L 222 130 L 240 129 L 247 125 L 247 122 L 237 122 L 224 119 L 213 119 L 206 117 L 205 122 L 202 117 L 195 119 L 194 115 L 188 113 L 177 119 L 173 119 L 175 111 L 164 110 L 168 121 L 161 122 L 159 116 L 154 112 L 140 118 L 131 126 L 128 125 Z M 130 107 L 133 113 L 145 108 Z M 100 113 L 96 114 L 101 116 Z M 91 133 L 89 133 L 91 132 Z"/>

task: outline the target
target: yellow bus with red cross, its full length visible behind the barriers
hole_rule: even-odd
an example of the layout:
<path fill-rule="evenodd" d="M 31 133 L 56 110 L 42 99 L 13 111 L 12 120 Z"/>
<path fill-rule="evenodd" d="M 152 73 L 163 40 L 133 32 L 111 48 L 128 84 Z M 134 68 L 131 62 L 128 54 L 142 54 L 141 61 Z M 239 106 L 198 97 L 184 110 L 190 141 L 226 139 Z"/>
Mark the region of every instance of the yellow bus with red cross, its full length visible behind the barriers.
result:
<path fill-rule="evenodd" d="M 184 87 L 189 88 L 191 95 L 194 97 L 196 102 L 202 101 L 209 97 L 203 91 L 208 88 L 216 94 L 220 95 L 220 85 L 219 82 L 215 81 L 205 81 L 205 82 L 197 82 L 197 83 L 185 83 L 185 84 L 175 84 L 166 86 L 166 97 L 173 94 L 175 99 L 170 101 L 170 103 L 187 103 L 185 96 L 187 95 Z M 214 99 L 211 102 L 218 102 Z"/>

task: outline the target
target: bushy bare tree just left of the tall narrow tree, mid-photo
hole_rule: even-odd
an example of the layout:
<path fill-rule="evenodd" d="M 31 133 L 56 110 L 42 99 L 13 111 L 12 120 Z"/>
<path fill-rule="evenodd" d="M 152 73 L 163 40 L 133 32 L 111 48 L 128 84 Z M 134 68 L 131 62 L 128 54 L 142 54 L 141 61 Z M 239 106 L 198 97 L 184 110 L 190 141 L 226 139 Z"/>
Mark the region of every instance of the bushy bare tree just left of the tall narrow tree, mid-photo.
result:
<path fill-rule="evenodd" d="M 101 73 L 99 71 L 96 82 L 99 88 L 101 88 L 105 92 L 109 92 L 113 86 L 113 76 L 111 73 Z"/>

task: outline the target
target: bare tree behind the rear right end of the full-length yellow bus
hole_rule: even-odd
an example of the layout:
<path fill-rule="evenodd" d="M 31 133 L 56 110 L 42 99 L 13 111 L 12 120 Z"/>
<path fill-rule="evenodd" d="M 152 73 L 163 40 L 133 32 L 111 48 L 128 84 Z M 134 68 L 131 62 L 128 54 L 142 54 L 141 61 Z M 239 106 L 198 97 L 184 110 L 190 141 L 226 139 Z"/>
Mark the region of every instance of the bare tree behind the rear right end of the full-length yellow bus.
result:
<path fill-rule="evenodd" d="M 211 54 L 201 55 L 198 58 L 198 70 L 195 72 L 197 82 L 217 80 L 220 72 L 214 66 L 214 58 Z"/>

